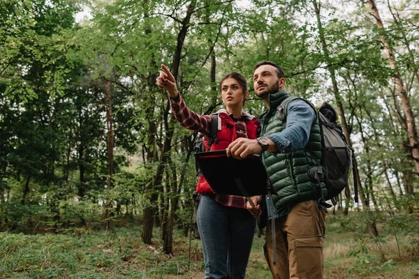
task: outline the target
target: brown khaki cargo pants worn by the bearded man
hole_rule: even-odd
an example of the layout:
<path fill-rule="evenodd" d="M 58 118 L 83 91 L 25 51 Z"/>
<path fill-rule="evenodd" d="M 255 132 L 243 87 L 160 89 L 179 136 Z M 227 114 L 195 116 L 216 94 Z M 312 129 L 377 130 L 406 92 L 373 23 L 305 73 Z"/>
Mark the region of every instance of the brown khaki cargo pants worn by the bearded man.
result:
<path fill-rule="evenodd" d="M 272 225 L 266 226 L 265 258 L 274 279 L 322 279 L 325 211 L 315 201 L 300 202 L 275 220 L 277 265 L 272 263 Z"/>

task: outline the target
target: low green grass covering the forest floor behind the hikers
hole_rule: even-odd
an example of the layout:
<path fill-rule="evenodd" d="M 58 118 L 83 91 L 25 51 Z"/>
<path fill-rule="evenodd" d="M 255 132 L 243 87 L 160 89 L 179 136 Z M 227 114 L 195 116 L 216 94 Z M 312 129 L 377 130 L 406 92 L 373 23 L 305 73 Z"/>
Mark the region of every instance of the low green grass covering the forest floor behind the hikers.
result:
<path fill-rule="evenodd" d="M 332 216 L 327 223 L 325 279 L 419 278 L 417 244 L 411 245 L 410 234 L 397 235 L 399 255 L 392 234 L 384 234 L 377 243 L 362 225 L 341 227 Z M 161 250 L 159 229 L 154 229 L 152 245 L 142 243 L 140 235 L 141 227 L 136 225 L 117 227 L 112 232 L 76 230 L 34 235 L 0 232 L 0 279 L 203 278 L 199 240 L 192 240 L 189 260 L 189 238 L 180 230 L 175 230 L 175 251 L 171 255 Z M 255 236 L 247 278 L 272 278 L 265 263 L 263 243 L 264 236 Z"/>

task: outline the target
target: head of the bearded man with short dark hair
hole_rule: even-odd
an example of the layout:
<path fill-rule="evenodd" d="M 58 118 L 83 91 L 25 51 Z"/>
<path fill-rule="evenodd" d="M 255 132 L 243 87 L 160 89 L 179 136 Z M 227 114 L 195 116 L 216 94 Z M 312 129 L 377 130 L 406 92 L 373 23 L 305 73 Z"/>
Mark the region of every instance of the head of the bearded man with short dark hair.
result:
<path fill-rule="evenodd" d="M 253 74 L 253 88 L 256 96 L 265 99 L 269 94 L 282 90 L 285 79 L 278 78 L 277 68 L 271 65 L 262 65 Z"/>

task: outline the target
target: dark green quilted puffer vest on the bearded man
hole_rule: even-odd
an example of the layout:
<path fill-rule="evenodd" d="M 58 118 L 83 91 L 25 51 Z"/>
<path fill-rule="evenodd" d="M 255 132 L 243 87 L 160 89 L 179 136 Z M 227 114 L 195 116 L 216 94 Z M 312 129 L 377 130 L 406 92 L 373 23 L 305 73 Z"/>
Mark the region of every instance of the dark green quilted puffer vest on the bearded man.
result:
<path fill-rule="evenodd" d="M 270 94 L 268 99 L 270 110 L 261 116 L 262 131 L 260 136 L 284 130 L 284 123 L 279 119 L 277 107 L 289 96 L 285 90 Z M 311 181 L 307 173 L 310 167 L 317 165 L 308 150 L 314 153 L 316 158 L 321 158 L 321 130 L 317 117 L 311 126 L 309 142 L 305 149 L 289 153 L 270 153 L 268 151 L 263 153 L 263 163 L 267 174 L 278 194 L 272 195 L 272 201 L 277 211 L 288 204 L 321 198 L 318 183 Z M 328 190 L 326 190 L 325 184 L 321 183 L 321 187 L 323 195 L 326 196 Z"/>

